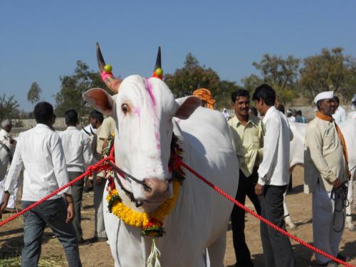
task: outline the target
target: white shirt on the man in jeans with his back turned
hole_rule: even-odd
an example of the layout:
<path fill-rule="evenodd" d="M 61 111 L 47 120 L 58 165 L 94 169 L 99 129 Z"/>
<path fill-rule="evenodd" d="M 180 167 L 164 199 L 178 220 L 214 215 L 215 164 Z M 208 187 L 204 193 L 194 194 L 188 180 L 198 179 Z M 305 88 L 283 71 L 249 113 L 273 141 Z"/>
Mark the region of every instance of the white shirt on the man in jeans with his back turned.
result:
<path fill-rule="evenodd" d="M 61 138 L 47 125 L 37 124 L 20 133 L 4 191 L 14 191 L 23 168 L 26 171 L 23 177 L 24 201 L 38 201 L 69 182 Z M 57 199 L 63 193 L 71 194 L 70 187 L 50 199 Z"/>

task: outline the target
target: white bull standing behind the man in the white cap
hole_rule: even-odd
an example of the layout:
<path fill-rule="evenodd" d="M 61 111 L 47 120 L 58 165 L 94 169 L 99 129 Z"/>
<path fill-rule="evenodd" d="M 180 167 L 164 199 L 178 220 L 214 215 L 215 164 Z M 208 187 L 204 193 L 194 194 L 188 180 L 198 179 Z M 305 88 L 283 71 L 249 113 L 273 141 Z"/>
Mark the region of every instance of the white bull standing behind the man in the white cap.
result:
<path fill-rule="evenodd" d="M 293 132 L 293 140 L 290 141 L 290 169 L 293 169 L 295 165 L 304 164 L 304 142 L 305 142 L 305 128 L 306 124 L 303 123 L 298 123 L 298 122 L 292 122 L 290 123 L 290 129 Z M 348 152 L 348 157 L 349 157 L 349 169 L 352 169 L 351 171 L 351 178 L 355 179 L 356 176 L 356 142 L 355 142 L 355 137 L 356 137 L 356 120 L 353 119 L 347 119 L 345 123 L 340 125 L 340 130 L 342 132 L 342 135 L 345 138 L 346 146 L 347 146 L 347 152 Z M 348 192 L 347 192 L 347 200 L 349 201 L 349 205 L 346 208 L 346 226 L 348 229 L 351 231 L 354 229 L 354 224 L 352 223 L 352 216 L 351 216 L 351 211 L 352 211 L 352 179 L 348 183 Z M 288 206 L 286 204 L 286 194 L 284 196 L 284 201 L 283 201 L 283 206 L 284 206 L 284 215 L 286 216 L 286 224 L 291 229 L 295 229 L 295 224 L 293 224 L 293 221 L 290 218 L 290 214 L 288 212 Z"/>

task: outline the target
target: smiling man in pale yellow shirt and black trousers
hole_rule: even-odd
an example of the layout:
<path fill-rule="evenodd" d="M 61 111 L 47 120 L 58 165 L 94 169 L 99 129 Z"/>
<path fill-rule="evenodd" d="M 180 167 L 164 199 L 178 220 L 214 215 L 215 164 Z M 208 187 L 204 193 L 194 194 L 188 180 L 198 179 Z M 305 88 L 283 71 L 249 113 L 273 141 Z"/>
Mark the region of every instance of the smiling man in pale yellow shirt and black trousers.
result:
<path fill-rule="evenodd" d="M 240 162 L 239 188 L 236 200 L 245 204 L 246 196 L 252 201 L 256 212 L 261 214 L 261 205 L 255 193 L 258 180 L 258 164 L 262 159 L 263 126 L 256 116 L 250 116 L 250 95 L 247 90 L 236 90 L 231 94 L 231 106 L 235 116 L 229 121 L 234 138 L 236 156 Z M 231 213 L 231 226 L 236 255 L 236 266 L 253 266 L 251 253 L 245 241 L 245 211 L 234 206 Z"/>

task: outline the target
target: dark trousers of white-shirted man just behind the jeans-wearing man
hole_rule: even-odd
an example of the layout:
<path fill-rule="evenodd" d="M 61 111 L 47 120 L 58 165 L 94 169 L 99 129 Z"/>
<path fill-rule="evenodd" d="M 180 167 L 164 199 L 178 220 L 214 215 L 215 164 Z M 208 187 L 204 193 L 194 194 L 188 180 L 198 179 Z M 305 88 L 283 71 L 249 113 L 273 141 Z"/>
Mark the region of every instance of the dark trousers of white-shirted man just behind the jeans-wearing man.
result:
<path fill-rule="evenodd" d="M 82 172 L 68 172 L 68 177 L 70 181 L 72 181 L 73 179 L 80 176 L 81 174 Z M 80 207 L 82 206 L 83 188 L 84 188 L 84 179 L 80 179 L 72 186 L 72 196 L 73 196 L 73 204 L 74 204 L 73 226 L 78 241 L 83 239 L 83 231 L 82 231 L 82 227 L 80 226 L 80 221 L 81 221 Z"/>

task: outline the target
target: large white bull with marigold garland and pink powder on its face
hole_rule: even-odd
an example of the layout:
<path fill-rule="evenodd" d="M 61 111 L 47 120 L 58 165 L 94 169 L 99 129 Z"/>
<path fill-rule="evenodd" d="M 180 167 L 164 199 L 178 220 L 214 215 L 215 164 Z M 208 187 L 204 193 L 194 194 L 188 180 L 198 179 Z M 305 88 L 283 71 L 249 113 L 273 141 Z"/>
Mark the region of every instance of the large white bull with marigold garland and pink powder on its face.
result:
<path fill-rule="evenodd" d="M 151 187 L 147 192 L 141 184 L 120 177 L 135 199 L 143 201 L 143 206 L 136 208 L 116 183 L 127 206 L 150 212 L 172 196 L 172 184 L 168 185 L 167 179 L 172 176 L 168 162 L 173 131 L 184 150 L 183 161 L 227 194 L 236 194 L 239 162 L 228 126 L 220 112 L 200 108 L 199 98 L 176 101 L 162 80 L 139 75 L 125 78 L 120 83 L 120 93 L 113 97 L 104 90 L 90 89 L 83 98 L 116 121 L 117 167 Z M 177 203 L 164 219 L 166 234 L 156 240 L 161 253 L 159 261 L 162 266 L 206 266 L 207 248 L 211 266 L 222 266 L 233 204 L 187 170 L 184 172 L 186 179 Z M 115 266 L 145 266 L 152 238 L 141 236 L 140 229 L 123 223 L 108 209 L 104 217 Z"/>

